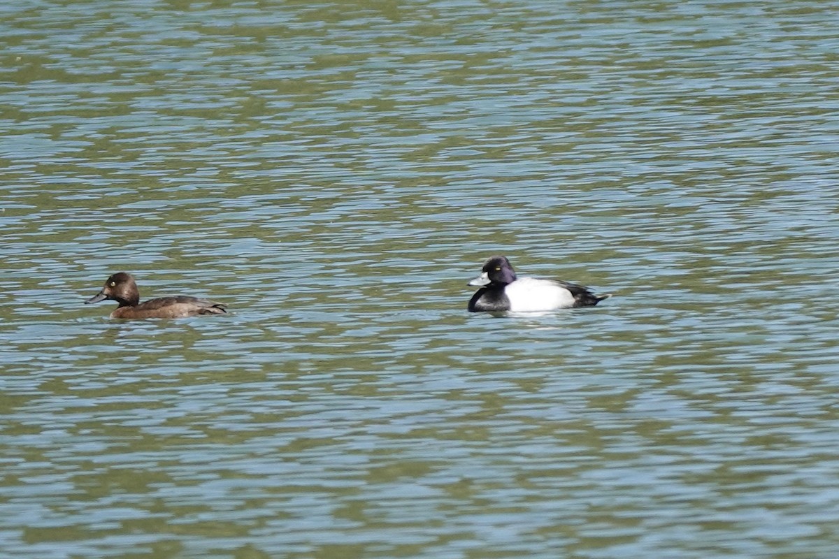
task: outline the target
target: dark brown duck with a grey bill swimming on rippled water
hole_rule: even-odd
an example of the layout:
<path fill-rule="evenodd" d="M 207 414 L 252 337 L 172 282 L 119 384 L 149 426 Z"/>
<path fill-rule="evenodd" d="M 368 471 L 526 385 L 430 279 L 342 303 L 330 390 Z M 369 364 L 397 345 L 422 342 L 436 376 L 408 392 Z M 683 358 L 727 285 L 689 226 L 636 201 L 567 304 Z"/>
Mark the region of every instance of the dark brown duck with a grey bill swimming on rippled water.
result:
<path fill-rule="evenodd" d="M 183 318 L 196 314 L 227 313 L 225 303 L 209 299 L 176 295 L 149 299 L 140 303 L 140 291 L 134 277 L 126 272 L 117 272 L 108 277 L 102 291 L 87 299 L 85 304 L 99 303 L 110 299 L 118 303 L 111 318 Z"/>

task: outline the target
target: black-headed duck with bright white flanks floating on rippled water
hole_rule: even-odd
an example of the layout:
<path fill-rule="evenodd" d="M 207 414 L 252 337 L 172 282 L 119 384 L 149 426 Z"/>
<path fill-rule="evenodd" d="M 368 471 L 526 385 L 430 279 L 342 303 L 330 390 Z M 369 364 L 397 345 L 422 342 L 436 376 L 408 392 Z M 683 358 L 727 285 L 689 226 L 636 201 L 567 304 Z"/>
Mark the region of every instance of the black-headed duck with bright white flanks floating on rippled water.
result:
<path fill-rule="evenodd" d="M 507 256 L 491 256 L 481 275 L 469 282 L 480 289 L 469 301 L 470 313 L 538 313 L 557 308 L 593 307 L 612 297 L 595 295 L 588 287 L 559 280 L 517 277 Z"/>

